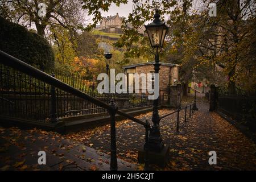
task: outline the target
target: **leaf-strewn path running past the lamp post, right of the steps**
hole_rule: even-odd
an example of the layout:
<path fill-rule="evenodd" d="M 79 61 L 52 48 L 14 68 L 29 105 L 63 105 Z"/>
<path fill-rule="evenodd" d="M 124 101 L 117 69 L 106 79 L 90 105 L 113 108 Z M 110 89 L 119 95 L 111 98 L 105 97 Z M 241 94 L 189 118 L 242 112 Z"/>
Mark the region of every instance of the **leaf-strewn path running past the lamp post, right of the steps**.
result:
<path fill-rule="evenodd" d="M 192 100 L 192 98 L 189 98 Z M 219 170 L 256 169 L 255 144 L 218 114 L 209 112 L 203 98 L 197 101 L 199 111 L 188 122 L 181 111 L 180 133 L 176 133 L 176 114 L 162 119 L 160 130 L 164 141 L 170 144 L 170 161 L 167 170 Z M 162 109 L 160 115 L 171 110 Z M 138 118 L 150 117 L 151 113 Z M 110 151 L 110 125 L 67 135 L 97 150 Z M 129 119 L 117 122 L 118 158 L 137 162 L 137 151 L 144 142 L 144 128 Z M 217 165 L 208 163 L 209 151 L 216 151 Z M 158 169 L 155 166 L 151 166 Z M 141 167 L 142 168 L 142 167 Z"/>

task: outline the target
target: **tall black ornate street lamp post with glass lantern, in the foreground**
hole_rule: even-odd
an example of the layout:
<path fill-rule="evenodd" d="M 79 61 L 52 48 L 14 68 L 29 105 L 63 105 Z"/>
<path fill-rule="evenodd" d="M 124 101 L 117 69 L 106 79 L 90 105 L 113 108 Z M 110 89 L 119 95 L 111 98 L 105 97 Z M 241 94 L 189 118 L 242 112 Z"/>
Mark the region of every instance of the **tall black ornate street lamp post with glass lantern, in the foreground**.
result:
<path fill-rule="evenodd" d="M 160 14 L 158 10 L 154 15 L 154 20 L 152 23 L 145 25 L 148 38 L 150 39 L 150 44 L 152 48 L 155 48 L 155 64 L 154 70 L 155 74 L 159 73 L 160 64 L 159 64 L 159 53 L 162 51 L 164 38 L 166 37 L 168 27 L 165 22 L 160 21 Z M 157 90 L 159 92 L 159 90 Z M 159 130 L 159 114 L 158 114 L 158 101 L 159 98 L 156 98 L 153 102 L 153 114 L 152 114 L 152 122 L 154 123 L 150 134 L 148 137 L 149 149 L 151 151 L 160 152 L 164 147 L 164 142 L 162 139 L 162 135 Z"/>

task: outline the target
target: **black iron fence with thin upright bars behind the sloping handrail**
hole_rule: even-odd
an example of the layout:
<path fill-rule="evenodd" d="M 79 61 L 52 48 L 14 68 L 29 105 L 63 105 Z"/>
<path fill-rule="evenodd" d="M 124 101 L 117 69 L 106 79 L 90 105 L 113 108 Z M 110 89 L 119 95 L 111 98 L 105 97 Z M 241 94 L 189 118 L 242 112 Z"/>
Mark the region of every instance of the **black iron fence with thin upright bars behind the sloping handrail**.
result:
<path fill-rule="evenodd" d="M 64 75 L 63 72 L 55 72 L 59 76 L 51 73 L 52 77 L 60 78 L 73 88 L 87 93 L 106 104 L 109 104 L 110 98 L 113 98 L 119 109 L 150 106 L 152 103 L 142 94 L 100 94 L 96 92 L 96 81 L 90 81 L 89 83 L 93 84 L 88 85 L 88 80 L 84 80 L 84 78 L 77 75 L 74 76 L 70 73 Z M 107 111 L 64 90 L 53 89 L 52 85 L 1 63 L 0 73 L 1 115 L 13 116 L 13 113 L 15 113 L 15 117 L 18 118 L 49 122 L 51 106 L 56 107 L 58 118 L 106 113 Z M 12 103 L 15 107 L 12 106 Z"/>

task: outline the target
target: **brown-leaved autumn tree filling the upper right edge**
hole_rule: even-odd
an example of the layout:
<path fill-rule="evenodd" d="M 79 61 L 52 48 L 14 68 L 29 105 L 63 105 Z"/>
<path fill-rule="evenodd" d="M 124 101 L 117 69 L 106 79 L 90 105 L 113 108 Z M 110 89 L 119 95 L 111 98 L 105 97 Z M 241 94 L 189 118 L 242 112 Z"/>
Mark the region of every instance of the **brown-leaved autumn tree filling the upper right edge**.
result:
<path fill-rule="evenodd" d="M 239 86 L 255 90 L 255 10 L 253 1 L 218 1 L 216 18 L 209 17 L 207 11 L 201 14 L 199 60 L 222 69 L 229 94 L 236 94 Z M 245 86 L 245 82 L 251 84 Z"/>

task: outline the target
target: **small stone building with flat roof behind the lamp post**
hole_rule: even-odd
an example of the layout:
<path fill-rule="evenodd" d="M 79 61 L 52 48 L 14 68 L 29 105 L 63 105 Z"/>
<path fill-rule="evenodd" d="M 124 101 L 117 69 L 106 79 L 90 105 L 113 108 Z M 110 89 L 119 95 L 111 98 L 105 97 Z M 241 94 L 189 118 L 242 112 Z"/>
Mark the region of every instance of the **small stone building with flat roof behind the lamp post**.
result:
<path fill-rule="evenodd" d="M 155 62 L 147 62 L 141 64 L 133 64 L 122 67 L 125 69 L 125 73 L 127 74 L 127 86 L 133 84 L 134 85 L 134 73 L 151 73 L 152 77 L 154 77 L 154 63 Z M 171 64 L 171 63 L 159 63 L 159 93 L 168 94 L 170 92 L 170 86 L 179 82 L 179 65 Z M 141 84 L 141 82 L 140 82 Z M 133 86 L 134 88 L 135 86 Z M 145 90 L 144 90 L 145 91 Z M 134 90 L 135 93 L 135 90 Z M 142 93 L 140 88 L 139 93 Z"/>

